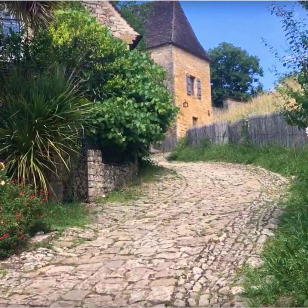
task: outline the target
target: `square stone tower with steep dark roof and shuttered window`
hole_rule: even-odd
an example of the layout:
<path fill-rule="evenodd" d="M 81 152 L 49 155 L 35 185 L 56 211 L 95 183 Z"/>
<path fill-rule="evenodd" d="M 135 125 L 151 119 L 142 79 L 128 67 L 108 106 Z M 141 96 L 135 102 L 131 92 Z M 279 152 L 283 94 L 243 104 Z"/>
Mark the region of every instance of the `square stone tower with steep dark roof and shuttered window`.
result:
<path fill-rule="evenodd" d="M 167 71 L 167 86 L 180 107 L 171 132 L 178 138 L 185 136 L 188 128 L 212 121 L 210 59 L 179 1 L 152 3 L 145 39 L 152 59 Z"/>

